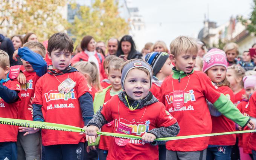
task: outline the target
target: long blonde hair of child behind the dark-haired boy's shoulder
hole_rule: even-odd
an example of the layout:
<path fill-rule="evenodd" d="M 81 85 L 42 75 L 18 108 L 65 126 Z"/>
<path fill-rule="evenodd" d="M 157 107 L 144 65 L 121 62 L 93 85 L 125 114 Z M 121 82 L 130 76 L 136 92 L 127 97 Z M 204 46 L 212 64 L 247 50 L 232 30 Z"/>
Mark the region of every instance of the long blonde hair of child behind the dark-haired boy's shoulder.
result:
<path fill-rule="evenodd" d="M 90 76 L 87 81 L 91 87 L 94 87 L 96 90 L 102 89 L 99 79 L 98 67 L 94 62 L 81 61 L 74 64 L 73 67 L 75 67 L 82 74 L 87 74 Z"/>

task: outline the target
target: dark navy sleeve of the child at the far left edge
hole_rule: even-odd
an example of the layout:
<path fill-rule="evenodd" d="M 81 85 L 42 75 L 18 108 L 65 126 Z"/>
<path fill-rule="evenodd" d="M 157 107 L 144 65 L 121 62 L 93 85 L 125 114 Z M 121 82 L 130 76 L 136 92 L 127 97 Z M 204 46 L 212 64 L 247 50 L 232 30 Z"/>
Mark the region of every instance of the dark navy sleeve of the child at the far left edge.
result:
<path fill-rule="evenodd" d="M 10 90 L 9 88 L 5 87 L 2 83 L 0 83 L 0 97 L 6 103 L 14 103 L 17 102 L 17 100 L 19 99 L 17 91 Z"/>

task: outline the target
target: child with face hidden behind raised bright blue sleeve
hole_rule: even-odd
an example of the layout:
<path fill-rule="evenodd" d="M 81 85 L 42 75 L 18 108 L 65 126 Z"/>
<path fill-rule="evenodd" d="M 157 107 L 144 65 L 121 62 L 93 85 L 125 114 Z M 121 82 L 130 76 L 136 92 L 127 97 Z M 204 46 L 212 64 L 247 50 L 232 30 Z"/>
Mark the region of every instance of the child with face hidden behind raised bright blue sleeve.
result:
<path fill-rule="evenodd" d="M 31 106 L 31 97 L 34 97 L 35 94 L 37 80 L 47 71 L 47 64 L 43 59 L 45 54 L 46 49 L 39 42 L 26 42 L 23 48 L 19 48 L 14 52 L 14 57 L 17 55 L 21 57 L 25 69 L 23 73 L 26 76 L 26 83 L 21 84 L 21 102 L 18 119 L 33 120 L 28 108 Z M 41 134 L 39 132 L 27 136 L 23 136 L 23 134 L 22 132 L 18 133 L 18 160 L 26 159 L 26 157 L 40 160 Z"/>

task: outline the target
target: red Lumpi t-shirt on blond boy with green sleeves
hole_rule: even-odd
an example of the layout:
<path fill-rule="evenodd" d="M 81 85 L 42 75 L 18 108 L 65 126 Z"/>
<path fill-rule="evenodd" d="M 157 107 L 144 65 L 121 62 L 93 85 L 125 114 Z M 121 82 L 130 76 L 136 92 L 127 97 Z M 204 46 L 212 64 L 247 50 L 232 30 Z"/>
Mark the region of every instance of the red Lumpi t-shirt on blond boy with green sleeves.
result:
<path fill-rule="evenodd" d="M 190 77 L 190 78 L 189 78 Z M 216 85 L 203 72 L 194 71 L 184 78 L 173 79 L 168 76 L 163 81 L 159 92 L 159 102 L 164 103 L 166 110 L 177 119 L 180 133 L 177 136 L 200 135 L 212 133 L 212 120 L 206 99 L 214 103 L 219 98 Z M 189 82 L 188 82 L 189 81 Z M 184 106 L 175 109 L 172 104 L 174 90 L 184 90 Z M 208 147 L 209 137 L 181 139 L 166 142 L 166 148 L 171 151 L 202 151 Z"/>

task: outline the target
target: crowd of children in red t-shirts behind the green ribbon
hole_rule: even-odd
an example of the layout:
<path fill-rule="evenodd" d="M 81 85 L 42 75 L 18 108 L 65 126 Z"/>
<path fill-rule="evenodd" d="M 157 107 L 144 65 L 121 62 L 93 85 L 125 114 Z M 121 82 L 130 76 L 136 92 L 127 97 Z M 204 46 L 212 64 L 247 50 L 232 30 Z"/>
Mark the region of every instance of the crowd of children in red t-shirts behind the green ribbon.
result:
<path fill-rule="evenodd" d="M 10 66 L 0 50 L 0 117 L 85 129 L 0 123 L 0 159 L 230 160 L 234 153 L 256 160 L 256 133 L 154 141 L 255 129 L 256 73 L 248 52 L 239 61 L 236 44 L 205 53 L 201 43 L 179 36 L 169 51 L 162 41 L 146 43 L 142 59 L 127 60 L 104 57 L 105 50 L 98 52 L 93 37 L 85 36 L 73 57 L 72 39 L 55 33 L 47 49 L 40 42 L 18 48 L 11 58 L 21 66 Z M 98 136 L 98 131 L 142 139 Z"/>

